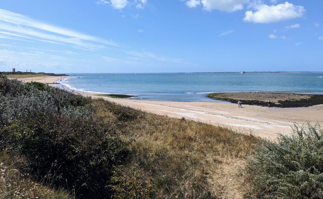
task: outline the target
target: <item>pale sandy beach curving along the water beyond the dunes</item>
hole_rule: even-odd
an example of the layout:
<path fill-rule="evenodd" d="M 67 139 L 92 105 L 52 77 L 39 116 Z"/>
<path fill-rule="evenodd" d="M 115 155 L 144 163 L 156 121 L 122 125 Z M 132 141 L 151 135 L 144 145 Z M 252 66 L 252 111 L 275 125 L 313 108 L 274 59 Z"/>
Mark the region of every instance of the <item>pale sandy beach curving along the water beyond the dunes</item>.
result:
<path fill-rule="evenodd" d="M 67 77 L 44 76 L 33 78 L 33 81 L 53 83 L 62 78 Z M 31 78 L 21 80 L 31 82 Z M 93 98 L 103 98 L 154 114 L 176 118 L 185 117 L 195 121 L 224 125 L 243 133 L 255 133 L 263 138 L 276 138 L 277 133 L 289 134 L 294 123 L 304 124 L 308 121 L 323 125 L 323 105 L 299 108 L 243 105 L 243 108 L 238 108 L 237 104 L 228 102 L 147 101 L 82 94 Z"/>

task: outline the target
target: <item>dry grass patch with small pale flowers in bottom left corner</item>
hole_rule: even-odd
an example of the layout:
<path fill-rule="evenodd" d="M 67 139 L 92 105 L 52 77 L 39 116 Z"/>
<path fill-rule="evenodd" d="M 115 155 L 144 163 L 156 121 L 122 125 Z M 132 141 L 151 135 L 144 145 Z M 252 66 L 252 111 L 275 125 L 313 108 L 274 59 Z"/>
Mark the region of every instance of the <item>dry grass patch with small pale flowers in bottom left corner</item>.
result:
<path fill-rule="evenodd" d="M 61 190 L 54 190 L 35 182 L 29 173 L 21 173 L 15 169 L 15 164 L 4 151 L 0 152 L 0 199 L 32 198 L 32 199 L 72 199 Z"/>

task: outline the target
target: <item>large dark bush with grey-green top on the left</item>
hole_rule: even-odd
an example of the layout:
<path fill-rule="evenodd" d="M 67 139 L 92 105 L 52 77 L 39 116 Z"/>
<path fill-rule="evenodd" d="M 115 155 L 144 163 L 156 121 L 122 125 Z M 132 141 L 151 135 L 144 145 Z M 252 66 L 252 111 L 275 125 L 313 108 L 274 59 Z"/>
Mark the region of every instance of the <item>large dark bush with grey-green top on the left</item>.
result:
<path fill-rule="evenodd" d="M 90 98 L 41 83 L 0 79 L 1 144 L 25 166 L 82 198 L 110 195 L 112 166 L 127 155 L 114 121 L 94 113 Z M 113 120 L 113 119 L 112 119 Z"/>

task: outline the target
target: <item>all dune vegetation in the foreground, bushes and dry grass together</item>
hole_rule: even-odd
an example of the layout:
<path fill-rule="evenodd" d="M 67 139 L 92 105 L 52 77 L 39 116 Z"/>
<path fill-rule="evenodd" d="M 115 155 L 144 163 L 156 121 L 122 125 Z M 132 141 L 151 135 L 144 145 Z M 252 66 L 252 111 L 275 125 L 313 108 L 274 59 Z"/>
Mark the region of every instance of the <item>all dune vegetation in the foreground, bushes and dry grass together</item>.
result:
<path fill-rule="evenodd" d="M 250 133 L 0 77 L 0 198 L 322 198 L 323 132 Z"/>

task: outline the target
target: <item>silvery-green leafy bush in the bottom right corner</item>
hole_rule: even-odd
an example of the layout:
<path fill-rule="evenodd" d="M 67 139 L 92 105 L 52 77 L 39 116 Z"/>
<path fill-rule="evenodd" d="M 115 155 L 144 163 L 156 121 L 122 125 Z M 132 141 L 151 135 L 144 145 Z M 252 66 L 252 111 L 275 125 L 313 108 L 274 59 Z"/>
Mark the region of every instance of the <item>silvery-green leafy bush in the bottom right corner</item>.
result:
<path fill-rule="evenodd" d="M 293 128 L 291 136 L 263 146 L 246 167 L 260 198 L 323 198 L 323 131 L 318 125 Z"/>

